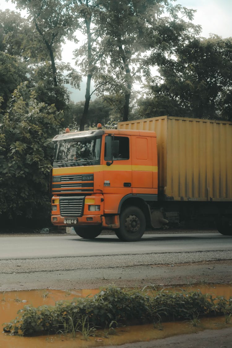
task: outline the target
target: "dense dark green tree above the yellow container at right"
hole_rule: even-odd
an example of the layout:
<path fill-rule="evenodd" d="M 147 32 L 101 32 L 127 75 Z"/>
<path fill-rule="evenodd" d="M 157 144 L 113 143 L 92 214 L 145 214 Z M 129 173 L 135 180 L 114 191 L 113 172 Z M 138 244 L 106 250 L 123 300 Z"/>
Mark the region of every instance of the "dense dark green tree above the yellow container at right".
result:
<path fill-rule="evenodd" d="M 232 39 L 193 39 L 163 58 L 142 110 L 160 116 L 231 119 Z"/>

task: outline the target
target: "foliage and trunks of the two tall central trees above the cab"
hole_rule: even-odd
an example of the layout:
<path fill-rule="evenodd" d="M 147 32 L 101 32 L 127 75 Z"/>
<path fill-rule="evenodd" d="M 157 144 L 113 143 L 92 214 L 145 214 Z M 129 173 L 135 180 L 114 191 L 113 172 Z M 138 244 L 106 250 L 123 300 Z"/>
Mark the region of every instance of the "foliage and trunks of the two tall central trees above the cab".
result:
<path fill-rule="evenodd" d="M 88 122 L 90 98 L 116 95 L 120 103 L 120 117 L 127 120 L 133 85 L 142 84 L 150 76 L 152 64 L 159 55 L 166 56 L 173 47 L 179 46 L 199 33 L 185 19 L 192 20 L 193 10 L 171 5 L 166 0 L 72 1 L 73 11 L 79 18 L 79 30 L 86 35 L 83 44 L 75 49 L 76 64 L 87 78 L 85 105 L 80 118 L 80 130 Z M 169 16 L 165 17 L 165 13 Z M 75 39 L 77 42 L 77 38 Z M 155 61 L 155 63 L 154 63 Z M 95 90 L 90 90 L 91 80 Z M 112 101 L 113 101 L 112 98 Z"/>

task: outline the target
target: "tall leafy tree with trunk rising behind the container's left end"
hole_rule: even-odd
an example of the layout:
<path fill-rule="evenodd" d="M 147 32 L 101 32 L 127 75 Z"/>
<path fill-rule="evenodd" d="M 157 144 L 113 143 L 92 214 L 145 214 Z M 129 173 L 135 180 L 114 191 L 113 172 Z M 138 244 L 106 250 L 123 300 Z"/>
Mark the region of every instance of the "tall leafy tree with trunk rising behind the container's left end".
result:
<path fill-rule="evenodd" d="M 101 9 L 101 45 L 107 52 L 107 64 L 101 66 L 95 82 L 101 93 L 124 95 L 122 120 L 126 121 L 133 84 L 150 74 L 151 60 L 146 54 L 152 57 L 152 64 L 158 64 L 160 57 L 170 54 L 200 27 L 184 21 L 193 18 L 193 10 L 165 0 L 103 0 Z M 169 16 L 164 16 L 165 11 Z"/>

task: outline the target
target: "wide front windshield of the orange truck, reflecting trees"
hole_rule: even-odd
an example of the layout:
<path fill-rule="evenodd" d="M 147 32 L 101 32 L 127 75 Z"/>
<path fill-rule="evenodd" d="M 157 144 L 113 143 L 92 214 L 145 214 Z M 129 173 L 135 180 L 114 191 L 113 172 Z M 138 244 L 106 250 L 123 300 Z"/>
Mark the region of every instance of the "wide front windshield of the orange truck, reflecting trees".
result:
<path fill-rule="evenodd" d="M 101 137 L 56 141 L 54 167 L 100 164 Z"/>

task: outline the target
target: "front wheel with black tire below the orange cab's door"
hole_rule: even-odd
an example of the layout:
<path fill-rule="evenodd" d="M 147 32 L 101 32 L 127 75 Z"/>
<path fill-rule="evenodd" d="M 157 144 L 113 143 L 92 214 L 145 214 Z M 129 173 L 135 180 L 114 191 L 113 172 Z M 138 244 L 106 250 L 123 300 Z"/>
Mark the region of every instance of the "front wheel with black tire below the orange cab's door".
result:
<path fill-rule="evenodd" d="M 135 206 L 126 207 L 120 214 L 120 228 L 116 236 L 123 242 L 136 242 L 145 231 L 146 219 L 141 209 Z"/>

